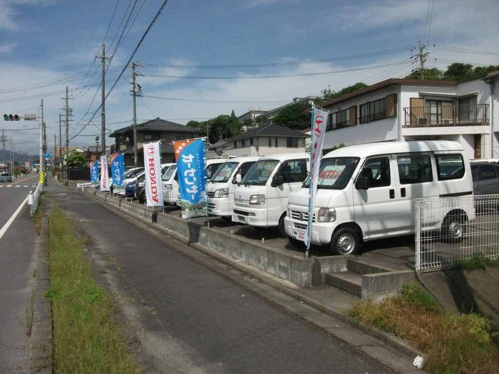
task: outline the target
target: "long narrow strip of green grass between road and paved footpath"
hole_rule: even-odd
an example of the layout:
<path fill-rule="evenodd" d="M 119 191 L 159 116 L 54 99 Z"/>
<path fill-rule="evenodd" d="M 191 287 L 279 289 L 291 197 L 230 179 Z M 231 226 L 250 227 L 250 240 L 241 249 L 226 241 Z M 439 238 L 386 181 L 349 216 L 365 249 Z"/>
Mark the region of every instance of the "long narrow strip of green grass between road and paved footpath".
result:
<path fill-rule="evenodd" d="M 139 373 L 114 319 L 112 299 L 94 283 L 82 244 L 57 206 L 48 226 L 54 373 Z"/>

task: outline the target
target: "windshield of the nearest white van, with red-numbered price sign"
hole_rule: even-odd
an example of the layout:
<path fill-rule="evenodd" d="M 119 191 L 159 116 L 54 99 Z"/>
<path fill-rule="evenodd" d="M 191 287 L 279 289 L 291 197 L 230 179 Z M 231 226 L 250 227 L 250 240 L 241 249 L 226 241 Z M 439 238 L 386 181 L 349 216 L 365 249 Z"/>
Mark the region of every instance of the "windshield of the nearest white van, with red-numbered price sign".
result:
<path fill-rule="evenodd" d="M 358 157 L 331 157 L 320 160 L 317 188 L 343 189 L 352 178 L 353 172 L 359 164 Z M 309 187 L 308 178 L 304 187 Z"/>

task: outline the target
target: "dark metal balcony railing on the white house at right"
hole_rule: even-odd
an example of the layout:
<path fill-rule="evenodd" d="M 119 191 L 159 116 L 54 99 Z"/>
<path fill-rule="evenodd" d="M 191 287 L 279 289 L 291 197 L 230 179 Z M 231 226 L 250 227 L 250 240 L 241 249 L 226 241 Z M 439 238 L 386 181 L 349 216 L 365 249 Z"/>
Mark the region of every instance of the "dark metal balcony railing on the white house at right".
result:
<path fill-rule="evenodd" d="M 404 108 L 404 127 L 489 125 L 489 104 Z"/>

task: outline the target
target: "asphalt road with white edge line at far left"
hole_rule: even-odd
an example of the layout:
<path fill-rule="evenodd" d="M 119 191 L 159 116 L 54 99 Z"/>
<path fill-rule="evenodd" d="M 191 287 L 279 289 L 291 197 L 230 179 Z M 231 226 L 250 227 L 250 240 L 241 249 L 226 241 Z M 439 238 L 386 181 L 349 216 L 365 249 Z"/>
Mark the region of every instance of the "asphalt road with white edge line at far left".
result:
<path fill-rule="evenodd" d="M 26 373 L 28 337 L 26 307 L 35 268 L 38 237 L 29 206 L 23 201 L 38 175 L 0 184 L 0 373 Z M 14 218 L 14 213 L 20 207 Z"/>

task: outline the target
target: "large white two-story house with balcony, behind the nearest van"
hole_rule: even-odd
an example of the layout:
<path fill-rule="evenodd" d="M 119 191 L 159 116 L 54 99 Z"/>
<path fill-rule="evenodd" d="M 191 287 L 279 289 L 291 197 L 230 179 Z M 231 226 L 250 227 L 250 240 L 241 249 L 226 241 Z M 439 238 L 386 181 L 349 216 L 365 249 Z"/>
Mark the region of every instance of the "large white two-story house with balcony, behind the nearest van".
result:
<path fill-rule="evenodd" d="M 341 143 L 454 140 L 470 159 L 499 158 L 498 78 L 387 79 L 324 102 L 324 153 Z"/>

